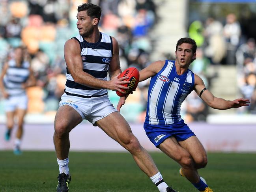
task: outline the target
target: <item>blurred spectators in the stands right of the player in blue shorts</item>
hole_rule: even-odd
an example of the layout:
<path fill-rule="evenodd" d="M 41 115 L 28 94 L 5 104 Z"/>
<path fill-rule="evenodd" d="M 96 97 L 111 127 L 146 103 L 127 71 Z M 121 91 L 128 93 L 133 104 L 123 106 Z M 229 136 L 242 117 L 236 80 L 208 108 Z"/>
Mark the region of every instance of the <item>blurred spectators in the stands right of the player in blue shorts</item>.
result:
<path fill-rule="evenodd" d="M 206 87 L 211 88 L 212 78 L 217 76 L 218 66 L 234 65 L 237 69 L 237 86 L 239 97 L 249 98 L 250 106 L 239 109 L 241 113 L 256 114 L 256 45 L 255 39 L 242 34 L 241 26 L 234 13 L 226 16 L 223 23 L 209 17 L 202 21 L 194 21 L 189 26 L 189 36 L 196 40 L 198 51 L 196 60 L 191 64 L 194 73 L 203 77 Z M 215 66 L 215 72 L 209 73 L 209 66 Z M 234 80 L 236 81 L 236 80 Z M 190 95 L 193 97 L 193 95 Z M 197 97 L 195 97 L 197 98 Z M 198 98 L 197 98 L 198 99 Z M 198 99 L 199 100 L 199 99 Z M 189 99 L 188 99 L 189 101 Z M 195 104 L 192 108 L 196 114 L 192 114 L 197 120 L 206 111 L 205 104 Z M 189 114 L 188 106 L 187 111 Z M 198 113 L 202 111 L 202 114 Z"/>

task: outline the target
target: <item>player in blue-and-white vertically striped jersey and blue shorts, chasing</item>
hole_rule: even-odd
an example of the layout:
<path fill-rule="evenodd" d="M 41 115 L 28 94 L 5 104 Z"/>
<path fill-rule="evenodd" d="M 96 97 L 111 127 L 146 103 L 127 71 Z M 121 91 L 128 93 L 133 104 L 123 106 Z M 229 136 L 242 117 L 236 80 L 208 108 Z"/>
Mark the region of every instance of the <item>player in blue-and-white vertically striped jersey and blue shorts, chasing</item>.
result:
<path fill-rule="evenodd" d="M 248 106 L 250 101 L 243 98 L 226 101 L 206 89 L 203 80 L 189 70 L 190 63 L 196 59 L 194 39 L 179 39 L 175 54 L 175 61 L 156 61 L 140 71 L 140 81 L 151 77 L 144 129 L 156 147 L 181 165 L 182 176 L 199 191 L 212 192 L 197 171 L 207 164 L 206 151 L 181 119 L 181 103 L 192 90 L 209 106 L 220 110 Z M 125 97 L 121 97 L 118 111 L 124 103 Z"/>

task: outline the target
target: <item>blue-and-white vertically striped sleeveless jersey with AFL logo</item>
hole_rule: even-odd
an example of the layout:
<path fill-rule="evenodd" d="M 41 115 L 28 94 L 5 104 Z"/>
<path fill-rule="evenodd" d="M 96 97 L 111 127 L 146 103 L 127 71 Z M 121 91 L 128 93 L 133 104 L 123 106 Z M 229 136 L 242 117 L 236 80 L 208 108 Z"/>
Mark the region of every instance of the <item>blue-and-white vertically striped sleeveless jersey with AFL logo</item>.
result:
<path fill-rule="evenodd" d="M 181 121 L 181 103 L 194 89 L 194 73 L 187 70 L 177 75 L 175 61 L 166 60 L 164 67 L 151 77 L 145 123 L 169 125 Z"/>

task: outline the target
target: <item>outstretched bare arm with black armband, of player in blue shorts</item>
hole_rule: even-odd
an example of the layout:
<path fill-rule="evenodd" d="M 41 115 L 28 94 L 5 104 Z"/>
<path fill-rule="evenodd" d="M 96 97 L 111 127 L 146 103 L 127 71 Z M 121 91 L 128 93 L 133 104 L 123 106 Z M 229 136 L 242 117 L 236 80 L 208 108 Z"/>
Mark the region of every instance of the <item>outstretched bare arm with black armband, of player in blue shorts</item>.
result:
<path fill-rule="evenodd" d="M 200 78 L 198 75 L 194 75 L 195 77 L 195 91 L 198 94 L 198 96 L 201 97 L 203 101 L 207 103 L 210 107 L 214 109 L 230 109 L 230 108 L 238 108 L 241 106 L 248 106 L 250 103 L 249 99 L 235 99 L 234 101 L 228 101 L 222 98 L 215 97 L 208 89 L 206 89 L 206 86 L 204 85 L 204 82 L 202 78 Z"/>

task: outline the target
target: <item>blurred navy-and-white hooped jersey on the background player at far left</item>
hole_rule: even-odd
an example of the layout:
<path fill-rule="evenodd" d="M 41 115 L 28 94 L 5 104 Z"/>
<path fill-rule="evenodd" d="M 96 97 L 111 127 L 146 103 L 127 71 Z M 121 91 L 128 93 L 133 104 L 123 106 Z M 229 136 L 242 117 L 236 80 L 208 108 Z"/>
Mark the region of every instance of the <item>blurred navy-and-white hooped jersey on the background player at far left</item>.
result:
<path fill-rule="evenodd" d="M 29 62 L 22 62 L 21 67 L 16 66 L 16 61 L 14 59 L 9 60 L 8 68 L 4 76 L 4 86 L 6 92 L 10 96 L 15 95 L 25 95 L 26 91 L 22 88 L 22 84 L 26 82 L 30 75 L 30 64 Z"/>

